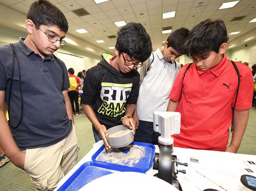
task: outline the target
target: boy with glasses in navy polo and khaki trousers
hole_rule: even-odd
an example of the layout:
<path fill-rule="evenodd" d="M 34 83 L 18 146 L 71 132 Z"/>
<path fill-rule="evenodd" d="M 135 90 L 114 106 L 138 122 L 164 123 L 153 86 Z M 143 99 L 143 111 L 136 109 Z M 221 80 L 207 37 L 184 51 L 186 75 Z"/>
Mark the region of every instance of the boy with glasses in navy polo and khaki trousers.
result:
<path fill-rule="evenodd" d="M 79 150 L 67 69 L 52 55 L 65 44 L 68 23 L 59 8 L 39 0 L 25 25 L 26 38 L 0 46 L 0 146 L 36 190 L 48 191 L 76 165 Z"/>

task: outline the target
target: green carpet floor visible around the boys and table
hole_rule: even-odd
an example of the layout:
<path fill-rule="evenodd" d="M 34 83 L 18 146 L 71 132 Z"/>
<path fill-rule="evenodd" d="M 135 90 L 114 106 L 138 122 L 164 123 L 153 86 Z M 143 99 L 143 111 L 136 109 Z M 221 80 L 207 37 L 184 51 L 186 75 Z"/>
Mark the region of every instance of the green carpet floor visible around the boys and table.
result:
<path fill-rule="evenodd" d="M 79 139 L 79 160 L 92 148 L 95 143 L 91 122 L 83 114 L 74 116 L 76 131 Z M 250 111 L 250 117 L 238 153 L 256 154 L 256 109 Z M 231 135 L 231 134 L 230 134 Z M 50 159 L 49 159 L 50 160 Z M 34 191 L 29 175 L 15 167 L 11 162 L 0 168 L 0 191 Z"/>

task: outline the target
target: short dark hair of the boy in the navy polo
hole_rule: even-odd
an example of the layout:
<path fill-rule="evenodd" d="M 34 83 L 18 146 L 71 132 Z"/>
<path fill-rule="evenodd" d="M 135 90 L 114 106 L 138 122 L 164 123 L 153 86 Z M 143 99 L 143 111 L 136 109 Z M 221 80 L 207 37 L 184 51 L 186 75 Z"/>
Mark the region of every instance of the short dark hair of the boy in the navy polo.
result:
<path fill-rule="evenodd" d="M 27 19 L 31 19 L 37 29 L 43 24 L 47 26 L 56 25 L 60 31 L 65 33 L 68 31 L 68 21 L 64 14 L 48 0 L 38 0 L 32 3 L 27 14 Z"/>

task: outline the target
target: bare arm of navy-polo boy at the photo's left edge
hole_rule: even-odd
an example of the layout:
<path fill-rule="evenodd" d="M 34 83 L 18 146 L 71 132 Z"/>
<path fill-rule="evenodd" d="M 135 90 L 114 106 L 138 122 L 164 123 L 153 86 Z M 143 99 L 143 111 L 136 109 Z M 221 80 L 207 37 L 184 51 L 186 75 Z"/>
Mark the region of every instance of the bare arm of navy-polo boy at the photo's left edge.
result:
<path fill-rule="evenodd" d="M 5 91 L 0 91 L 0 146 L 14 165 L 24 169 L 25 153 L 20 151 L 11 134 L 4 113 Z"/>

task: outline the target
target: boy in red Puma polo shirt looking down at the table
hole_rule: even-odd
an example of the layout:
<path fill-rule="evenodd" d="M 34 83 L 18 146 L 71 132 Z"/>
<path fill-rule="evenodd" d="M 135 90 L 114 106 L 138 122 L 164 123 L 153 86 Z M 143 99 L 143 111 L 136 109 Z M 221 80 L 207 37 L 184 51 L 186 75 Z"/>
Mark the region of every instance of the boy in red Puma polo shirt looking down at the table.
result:
<path fill-rule="evenodd" d="M 253 78 L 250 68 L 240 62 L 233 65 L 226 57 L 227 41 L 225 23 L 206 19 L 185 42 L 193 63 L 180 69 L 167 107 L 181 114 L 176 147 L 236 153 L 240 146 L 252 107 Z M 232 117 L 232 141 L 227 147 Z"/>

